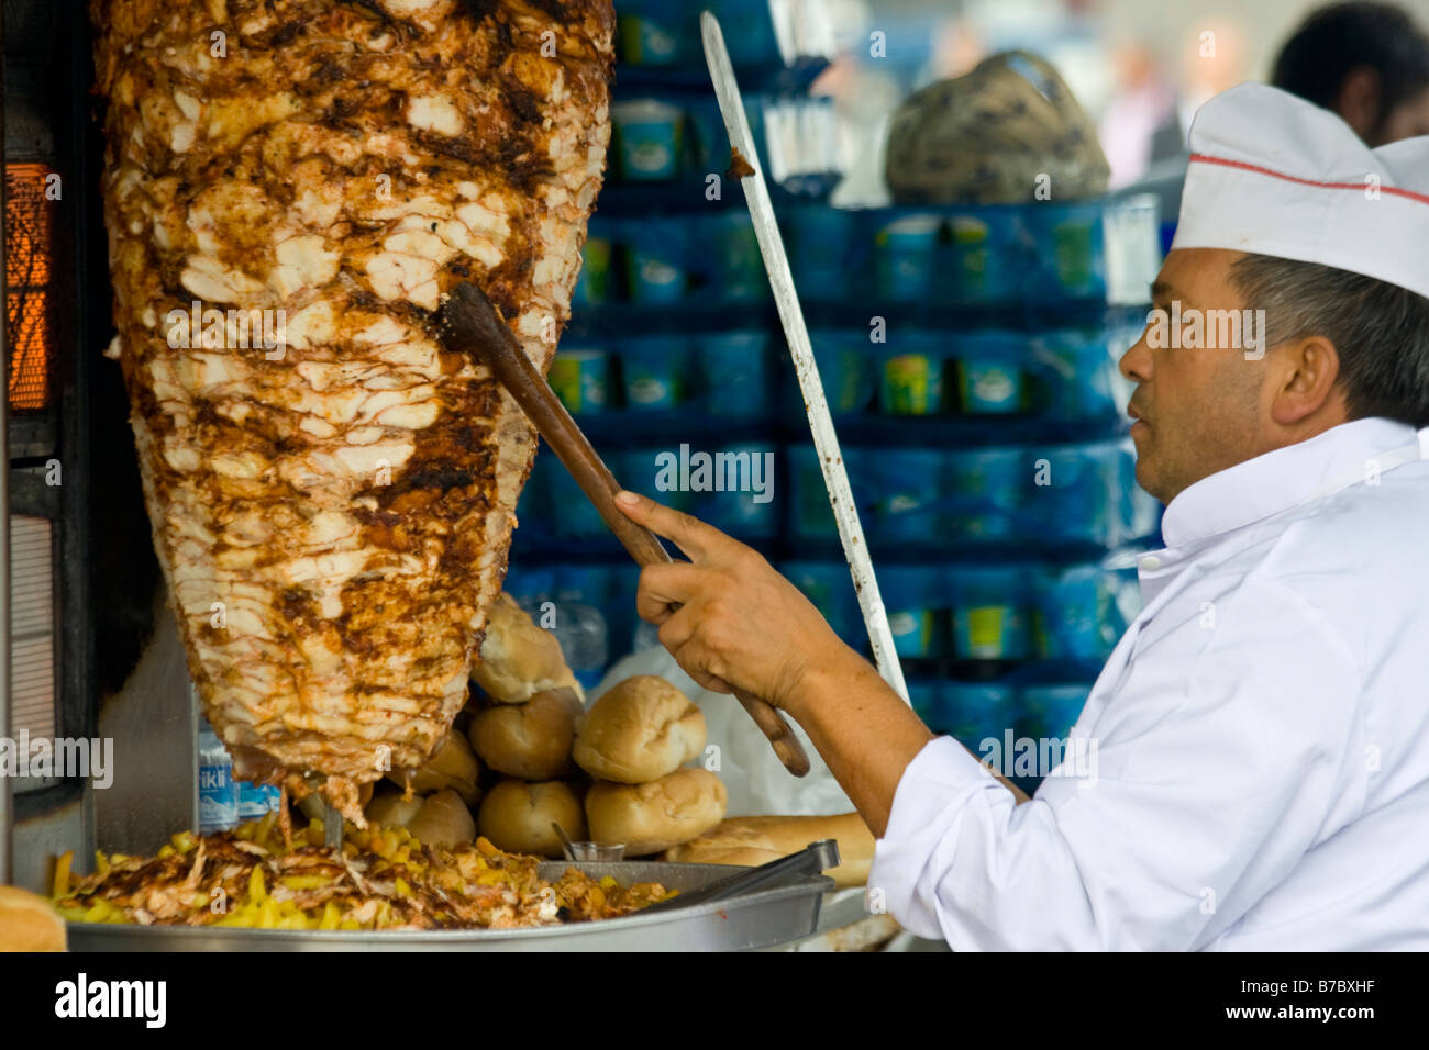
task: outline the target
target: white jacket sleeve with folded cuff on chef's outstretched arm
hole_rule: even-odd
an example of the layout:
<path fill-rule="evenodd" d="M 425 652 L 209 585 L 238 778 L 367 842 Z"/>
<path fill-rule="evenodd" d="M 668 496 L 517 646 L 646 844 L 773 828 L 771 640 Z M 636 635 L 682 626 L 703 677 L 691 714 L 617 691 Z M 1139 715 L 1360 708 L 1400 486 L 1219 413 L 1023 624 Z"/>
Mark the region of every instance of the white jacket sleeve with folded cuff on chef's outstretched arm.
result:
<path fill-rule="evenodd" d="M 947 737 L 903 773 L 869 887 L 955 950 L 1209 944 L 1363 806 L 1353 653 L 1250 577 L 1142 639 L 1067 760 L 1015 806 Z M 1079 740 L 1085 743 L 1079 743 Z M 1085 747 L 1076 761 L 1076 747 Z"/>

